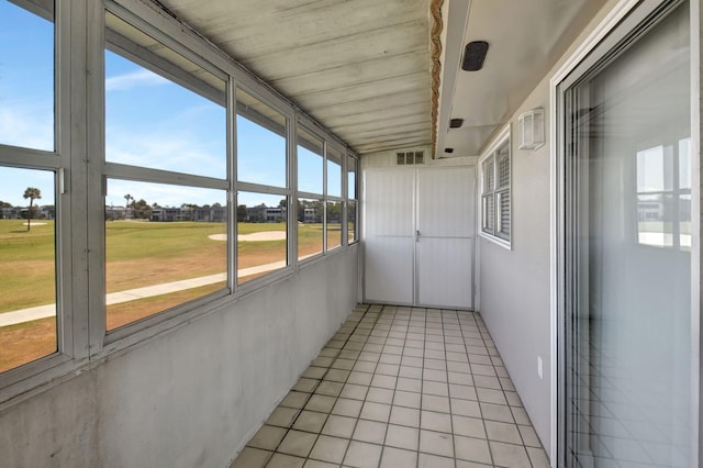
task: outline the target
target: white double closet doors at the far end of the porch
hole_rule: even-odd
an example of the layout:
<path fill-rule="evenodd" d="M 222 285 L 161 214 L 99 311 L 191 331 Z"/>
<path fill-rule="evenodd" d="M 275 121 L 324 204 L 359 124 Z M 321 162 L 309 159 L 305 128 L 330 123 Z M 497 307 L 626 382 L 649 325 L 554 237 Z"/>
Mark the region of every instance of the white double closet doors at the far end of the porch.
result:
<path fill-rule="evenodd" d="M 473 167 L 365 172 L 365 299 L 473 307 Z"/>

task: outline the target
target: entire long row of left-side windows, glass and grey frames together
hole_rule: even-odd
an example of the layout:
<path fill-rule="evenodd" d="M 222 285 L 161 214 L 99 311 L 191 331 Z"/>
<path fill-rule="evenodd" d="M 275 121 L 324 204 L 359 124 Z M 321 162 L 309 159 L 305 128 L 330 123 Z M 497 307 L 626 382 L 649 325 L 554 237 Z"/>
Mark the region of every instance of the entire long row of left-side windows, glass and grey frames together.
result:
<path fill-rule="evenodd" d="M 291 135 L 306 120 L 292 104 L 176 21 L 118 3 L 102 34 L 94 10 L 0 0 L 0 403 L 356 229 L 344 145 L 313 124 Z"/>

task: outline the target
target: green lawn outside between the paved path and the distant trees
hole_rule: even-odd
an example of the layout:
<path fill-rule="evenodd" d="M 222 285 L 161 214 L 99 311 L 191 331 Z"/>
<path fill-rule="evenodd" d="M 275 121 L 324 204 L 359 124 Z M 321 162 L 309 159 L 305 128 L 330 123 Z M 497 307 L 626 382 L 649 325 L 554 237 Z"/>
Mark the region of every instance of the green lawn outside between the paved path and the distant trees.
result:
<path fill-rule="evenodd" d="M 54 222 L 0 220 L 0 313 L 55 302 Z M 105 223 L 108 292 L 226 270 L 224 223 Z M 238 223 L 238 234 L 284 231 L 286 223 Z M 301 255 L 322 250 L 322 225 L 299 224 Z M 286 258 L 286 241 L 242 242 L 239 268 Z"/>

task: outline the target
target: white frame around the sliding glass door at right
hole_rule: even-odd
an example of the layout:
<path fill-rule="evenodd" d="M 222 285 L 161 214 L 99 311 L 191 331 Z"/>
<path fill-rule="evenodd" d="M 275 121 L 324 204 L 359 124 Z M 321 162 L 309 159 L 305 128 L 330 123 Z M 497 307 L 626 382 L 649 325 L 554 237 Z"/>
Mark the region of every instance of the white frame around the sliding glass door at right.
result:
<path fill-rule="evenodd" d="M 567 389 L 570 385 L 567 371 L 567 353 L 569 349 L 570 317 L 568 311 L 576 297 L 574 274 L 567 271 L 567 266 L 573 264 L 574 252 L 567 250 L 567 235 L 574 232 L 578 220 L 573 205 L 567 205 L 576 197 L 567 197 L 569 191 L 578 190 L 572 183 L 573 165 L 569 165 L 567 157 L 573 154 L 578 138 L 573 138 L 570 129 L 576 127 L 578 115 L 573 113 L 576 93 L 569 93 L 580 81 L 592 76 L 602 67 L 607 66 L 614 57 L 627 49 L 659 19 L 681 4 L 683 0 L 623 0 L 606 15 L 601 24 L 584 40 L 569 60 L 554 75 L 550 80 L 551 108 L 551 349 L 554 365 L 551 369 L 553 387 L 553 433 L 550 459 L 553 467 L 567 465 Z M 700 0 L 690 0 L 691 24 L 691 466 L 699 466 L 703 461 L 703 430 L 701 428 L 701 308 L 700 308 L 700 147 L 701 147 L 701 8 Z"/>

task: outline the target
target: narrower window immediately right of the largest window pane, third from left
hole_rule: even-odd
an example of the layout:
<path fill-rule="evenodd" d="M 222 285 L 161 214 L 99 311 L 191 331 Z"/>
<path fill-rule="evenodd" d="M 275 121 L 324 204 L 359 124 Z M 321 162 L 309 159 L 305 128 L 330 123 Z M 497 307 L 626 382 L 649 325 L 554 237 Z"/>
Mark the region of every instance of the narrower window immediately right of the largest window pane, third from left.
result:
<path fill-rule="evenodd" d="M 287 123 L 237 89 L 237 283 L 288 265 Z"/>

